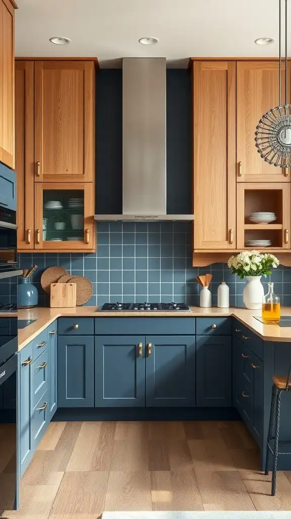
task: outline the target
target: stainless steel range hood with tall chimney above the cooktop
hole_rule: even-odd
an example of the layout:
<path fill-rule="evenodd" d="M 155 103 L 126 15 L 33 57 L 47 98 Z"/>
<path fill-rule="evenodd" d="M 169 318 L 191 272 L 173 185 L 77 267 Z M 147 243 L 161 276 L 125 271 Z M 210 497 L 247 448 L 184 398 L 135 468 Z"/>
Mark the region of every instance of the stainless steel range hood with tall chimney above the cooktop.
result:
<path fill-rule="evenodd" d="M 166 173 L 166 59 L 124 58 L 123 212 L 95 220 L 194 220 L 167 214 Z"/>

